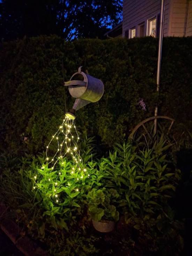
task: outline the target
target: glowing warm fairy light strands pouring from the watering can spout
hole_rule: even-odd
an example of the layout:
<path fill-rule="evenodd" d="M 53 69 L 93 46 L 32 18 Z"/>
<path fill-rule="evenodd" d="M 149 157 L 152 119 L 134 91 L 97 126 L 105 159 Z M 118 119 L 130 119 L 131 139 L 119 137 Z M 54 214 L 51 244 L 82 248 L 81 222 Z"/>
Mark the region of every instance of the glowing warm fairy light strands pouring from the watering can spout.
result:
<path fill-rule="evenodd" d="M 47 178 L 47 182 L 49 181 L 49 185 L 53 186 L 53 192 L 51 198 L 55 203 L 61 202 L 61 197 L 58 195 L 60 188 L 64 186 L 61 182 L 62 178 L 62 169 L 58 168 L 58 161 L 61 166 L 64 166 L 65 162 L 63 159 L 68 158 L 72 160 L 71 170 L 69 170 L 69 175 L 71 175 L 70 179 L 75 180 L 75 182 L 83 182 L 87 177 L 89 178 L 89 174 L 87 175 L 87 169 L 83 166 L 83 161 L 79 153 L 79 148 L 77 146 L 77 142 L 79 142 L 80 137 L 77 133 L 76 126 L 74 125 L 74 120 L 65 118 L 63 119 L 62 124 L 59 126 L 59 129 L 55 134 L 53 134 L 49 144 L 46 146 L 46 161 L 47 163 L 43 164 L 41 170 L 50 170 L 50 175 Z M 53 146 L 57 145 L 54 152 Z M 52 178 L 52 173 L 56 173 L 55 178 Z M 72 184 L 72 183 L 71 183 Z M 71 187 L 71 184 L 68 182 L 67 185 Z M 32 187 L 34 190 L 40 188 L 40 184 L 38 183 L 37 176 L 34 176 L 34 185 Z M 79 191 L 79 188 L 74 188 L 75 191 Z"/>

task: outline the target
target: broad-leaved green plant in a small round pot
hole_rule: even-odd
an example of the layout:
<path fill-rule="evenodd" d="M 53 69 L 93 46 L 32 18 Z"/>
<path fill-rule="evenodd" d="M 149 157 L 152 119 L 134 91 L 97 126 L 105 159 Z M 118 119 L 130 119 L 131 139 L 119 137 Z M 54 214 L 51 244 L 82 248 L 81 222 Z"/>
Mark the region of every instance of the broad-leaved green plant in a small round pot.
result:
<path fill-rule="evenodd" d="M 119 220 L 116 209 L 119 194 L 115 189 L 92 189 L 87 196 L 93 226 L 99 232 L 110 232 Z"/>

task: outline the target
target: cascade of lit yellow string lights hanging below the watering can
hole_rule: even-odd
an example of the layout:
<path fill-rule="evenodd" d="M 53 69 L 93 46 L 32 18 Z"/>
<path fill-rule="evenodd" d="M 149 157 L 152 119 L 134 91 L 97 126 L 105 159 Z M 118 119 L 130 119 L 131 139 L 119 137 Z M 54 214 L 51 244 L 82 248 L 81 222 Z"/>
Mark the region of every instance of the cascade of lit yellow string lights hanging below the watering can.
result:
<path fill-rule="evenodd" d="M 80 140 L 79 134 L 77 133 L 76 126 L 74 124 L 74 120 L 68 117 L 65 117 L 62 124 L 59 126 L 57 132 L 52 136 L 49 144 L 46 146 L 46 166 L 51 169 L 51 172 L 56 169 L 56 164 L 59 161 L 61 164 L 63 163 L 62 160 L 66 157 L 72 160 L 72 168 L 71 168 L 71 175 L 75 175 L 76 171 L 81 175 L 79 178 L 75 178 L 75 180 L 79 181 L 82 180 L 84 177 L 84 173 L 86 169 L 83 168 L 83 161 L 80 156 L 77 143 Z M 57 149 L 55 153 L 51 156 L 50 155 L 50 145 L 51 143 L 56 142 Z M 45 165 L 42 165 L 41 169 L 44 170 Z M 57 172 L 57 170 L 56 170 Z M 83 173 L 83 174 L 82 174 Z M 53 182 L 54 190 L 53 190 L 53 200 L 54 202 L 59 202 L 58 197 L 58 189 L 59 189 L 59 176 L 61 175 L 61 170 L 57 172 L 56 181 L 53 182 L 51 178 L 48 179 L 49 182 Z M 88 175 L 89 176 L 89 175 Z M 34 185 L 33 189 L 38 188 L 38 183 L 36 181 L 37 176 L 34 176 Z M 58 184 L 59 183 L 59 184 Z M 68 183 L 70 186 L 70 183 Z M 79 191 L 78 188 L 74 189 L 75 191 Z M 55 198 L 55 199 L 54 199 Z"/>

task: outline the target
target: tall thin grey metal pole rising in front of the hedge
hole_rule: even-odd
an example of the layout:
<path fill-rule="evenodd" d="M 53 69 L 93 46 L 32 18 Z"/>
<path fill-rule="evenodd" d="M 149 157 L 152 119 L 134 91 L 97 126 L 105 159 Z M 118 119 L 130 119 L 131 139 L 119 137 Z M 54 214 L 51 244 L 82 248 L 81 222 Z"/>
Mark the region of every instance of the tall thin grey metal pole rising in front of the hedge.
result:
<path fill-rule="evenodd" d="M 157 60 L 157 93 L 159 93 L 160 85 L 160 71 L 161 71 L 161 52 L 162 52 L 162 42 L 163 42 L 163 25 L 164 25 L 164 0 L 161 0 L 161 12 L 160 12 L 160 32 L 159 32 L 159 43 L 158 43 L 158 60 Z M 155 117 L 158 114 L 158 105 L 156 103 L 155 107 Z M 154 134 L 157 132 L 157 119 L 154 120 Z"/>

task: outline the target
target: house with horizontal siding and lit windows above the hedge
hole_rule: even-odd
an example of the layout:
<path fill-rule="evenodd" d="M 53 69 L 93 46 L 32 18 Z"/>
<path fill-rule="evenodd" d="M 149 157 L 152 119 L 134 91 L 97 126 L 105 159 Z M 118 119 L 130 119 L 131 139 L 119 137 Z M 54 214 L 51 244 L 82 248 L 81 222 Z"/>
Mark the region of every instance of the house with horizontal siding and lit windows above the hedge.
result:
<path fill-rule="evenodd" d="M 192 36 L 192 0 L 164 1 L 163 36 Z M 160 7 L 161 0 L 123 0 L 122 37 L 158 37 Z M 108 37 L 116 37 L 113 29 Z"/>

